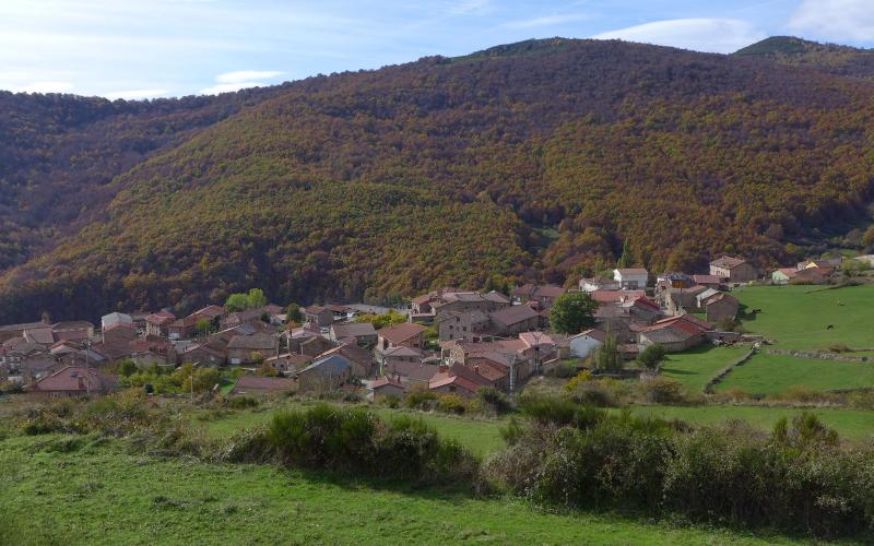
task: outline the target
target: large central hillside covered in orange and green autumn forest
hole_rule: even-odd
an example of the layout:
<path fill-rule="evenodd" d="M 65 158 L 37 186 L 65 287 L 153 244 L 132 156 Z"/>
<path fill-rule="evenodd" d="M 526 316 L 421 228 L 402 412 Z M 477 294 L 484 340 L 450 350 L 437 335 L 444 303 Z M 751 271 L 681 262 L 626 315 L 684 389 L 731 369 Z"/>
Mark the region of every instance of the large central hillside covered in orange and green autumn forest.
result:
<path fill-rule="evenodd" d="M 866 215 L 873 98 L 818 69 L 593 40 L 311 78 L 107 169 L 105 209 L 0 278 L 0 321 L 250 285 L 308 302 L 560 283 L 625 239 L 653 271 L 777 263 Z"/>

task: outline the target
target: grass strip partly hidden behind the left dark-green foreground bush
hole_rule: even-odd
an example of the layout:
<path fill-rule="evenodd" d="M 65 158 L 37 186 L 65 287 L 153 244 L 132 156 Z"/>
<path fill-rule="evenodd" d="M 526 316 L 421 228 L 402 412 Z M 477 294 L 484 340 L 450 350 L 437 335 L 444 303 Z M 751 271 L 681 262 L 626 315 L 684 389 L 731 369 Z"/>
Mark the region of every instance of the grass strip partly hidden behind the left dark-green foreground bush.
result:
<path fill-rule="evenodd" d="M 284 407 L 299 408 L 302 405 L 288 404 Z M 500 438 L 500 427 L 505 423 L 501 420 L 471 419 L 423 412 L 404 412 L 379 406 L 368 406 L 368 408 L 383 419 L 391 419 L 403 413 L 420 417 L 422 420 L 436 428 L 440 435 L 458 440 L 462 446 L 477 455 L 485 455 L 504 447 L 504 440 Z M 276 410 L 232 412 L 218 419 L 196 419 L 194 423 L 202 425 L 203 431 L 208 436 L 231 436 L 243 428 L 267 423 L 275 411 Z"/>

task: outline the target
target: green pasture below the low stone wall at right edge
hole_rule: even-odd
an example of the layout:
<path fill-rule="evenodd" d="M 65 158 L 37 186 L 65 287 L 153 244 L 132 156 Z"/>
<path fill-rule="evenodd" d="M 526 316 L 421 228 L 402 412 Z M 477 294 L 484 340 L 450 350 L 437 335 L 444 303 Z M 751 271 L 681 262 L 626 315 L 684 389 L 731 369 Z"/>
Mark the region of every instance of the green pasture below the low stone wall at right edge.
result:
<path fill-rule="evenodd" d="M 798 385 L 815 391 L 874 387 L 874 364 L 760 353 L 734 368 L 716 385 L 716 390 L 740 389 L 751 394 L 775 394 Z"/>

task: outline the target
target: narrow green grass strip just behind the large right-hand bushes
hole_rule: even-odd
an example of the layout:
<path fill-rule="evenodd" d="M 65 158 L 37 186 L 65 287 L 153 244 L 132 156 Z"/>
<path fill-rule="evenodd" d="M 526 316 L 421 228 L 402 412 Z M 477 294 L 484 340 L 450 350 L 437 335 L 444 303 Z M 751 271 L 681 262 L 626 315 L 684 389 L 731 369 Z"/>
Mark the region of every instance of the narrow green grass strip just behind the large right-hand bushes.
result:
<path fill-rule="evenodd" d="M 693 425 L 720 425 L 729 419 L 742 419 L 753 428 L 771 431 L 780 417 L 792 417 L 802 410 L 768 406 L 634 406 L 638 415 L 665 419 L 681 419 Z M 819 417 L 823 423 L 838 431 L 841 438 L 852 441 L 869 441 L 874 437 L 874 412 L 843 408 L 805 410 Z"/>

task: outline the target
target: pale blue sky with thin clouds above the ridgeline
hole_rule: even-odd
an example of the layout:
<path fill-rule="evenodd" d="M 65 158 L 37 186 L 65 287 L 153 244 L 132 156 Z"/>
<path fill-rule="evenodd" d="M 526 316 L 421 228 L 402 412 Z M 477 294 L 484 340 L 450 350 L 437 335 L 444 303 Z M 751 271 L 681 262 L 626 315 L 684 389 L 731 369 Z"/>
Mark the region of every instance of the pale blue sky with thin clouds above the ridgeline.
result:
<path fill-rule="evenodd" d="M 874 47 L 874 0 L 0 0 L 0 88 L 180 96 L 525 38 L 731 52 L 784 34 Z"/>

